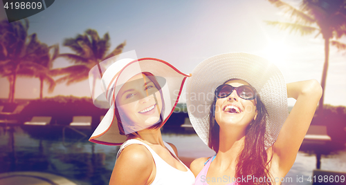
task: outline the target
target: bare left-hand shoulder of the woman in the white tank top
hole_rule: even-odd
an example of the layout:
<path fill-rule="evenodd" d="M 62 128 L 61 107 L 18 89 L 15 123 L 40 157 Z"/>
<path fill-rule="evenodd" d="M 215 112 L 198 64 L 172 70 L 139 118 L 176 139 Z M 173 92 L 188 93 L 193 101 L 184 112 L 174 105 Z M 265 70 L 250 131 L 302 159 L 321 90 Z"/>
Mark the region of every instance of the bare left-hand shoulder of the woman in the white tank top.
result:
<path fill-rule="evenodd" d="M 120 153 L 109 184 L 147 184 L 154 169 L 152 154 L 140 144 L 131 144 Z"/>

